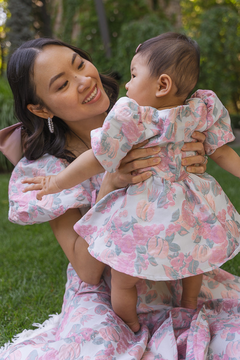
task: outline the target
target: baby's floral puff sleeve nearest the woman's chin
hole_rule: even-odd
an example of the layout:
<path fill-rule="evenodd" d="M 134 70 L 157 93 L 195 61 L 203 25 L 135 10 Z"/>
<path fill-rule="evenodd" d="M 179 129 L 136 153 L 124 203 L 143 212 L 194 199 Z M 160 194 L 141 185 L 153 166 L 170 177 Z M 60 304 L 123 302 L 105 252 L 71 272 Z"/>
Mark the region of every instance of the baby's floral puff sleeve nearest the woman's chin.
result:
<path fill-rule="evenodd" d="M 154 135 L 151 117 L 156 109 L 139 106 L 135 100 L 120 98 L 103 127 L 91 131 L 91 146 L 105 170 L 117 170 L 122 158 L 138 144 Z"/>

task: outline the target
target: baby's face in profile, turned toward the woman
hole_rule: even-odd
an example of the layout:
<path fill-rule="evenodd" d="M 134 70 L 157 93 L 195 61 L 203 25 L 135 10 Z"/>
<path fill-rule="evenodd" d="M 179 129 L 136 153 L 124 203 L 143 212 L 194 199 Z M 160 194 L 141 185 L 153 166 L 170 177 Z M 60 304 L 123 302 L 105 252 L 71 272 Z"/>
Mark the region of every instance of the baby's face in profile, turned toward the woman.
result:
<path fill-rule="evenodd" d="M 150 76 L 148 67 L 140 55 L 135 55 L 131 62 L 131 80 L 125 85 L 127 96 L 140 106 L 158 108 L 158 78 Z"/>

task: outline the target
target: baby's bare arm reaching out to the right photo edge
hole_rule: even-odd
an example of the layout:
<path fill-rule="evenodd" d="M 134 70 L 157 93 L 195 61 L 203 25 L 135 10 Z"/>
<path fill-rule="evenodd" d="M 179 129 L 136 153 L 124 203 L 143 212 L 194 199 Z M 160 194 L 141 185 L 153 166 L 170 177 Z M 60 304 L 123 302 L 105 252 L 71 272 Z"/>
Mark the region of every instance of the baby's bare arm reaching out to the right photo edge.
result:
<path fill-rule="evenodd" d="M 240 157 L 228 145 L 225 144 L 217 148 L 209 157 L 224 170 L 240 177 Z"/>

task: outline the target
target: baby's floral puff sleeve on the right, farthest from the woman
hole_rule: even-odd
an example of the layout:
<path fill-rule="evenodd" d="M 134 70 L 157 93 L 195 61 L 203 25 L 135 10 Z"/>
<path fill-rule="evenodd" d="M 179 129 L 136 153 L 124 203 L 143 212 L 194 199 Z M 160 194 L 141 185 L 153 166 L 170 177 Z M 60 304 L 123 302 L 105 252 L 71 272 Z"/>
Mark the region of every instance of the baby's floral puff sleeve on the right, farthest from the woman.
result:
<path fill-rule="evenodd" d="M 192 98 L 199 98 L 199 108 L 202 103 L 205 104 L 202 111 L 198 111 L 196 108 L 196 112 L 206 120 L 205 124 L 200 121 L 195 130 L 203 132 L 206 136 L 204 149 L 207 155 L 211 155 L 217 148 L 235 139 L 231 129 L 230 117 L 227 109 L 213 91 L 197 90 L 191 96 Z M 188 100 L 189 103 L 191 99 Z"/>

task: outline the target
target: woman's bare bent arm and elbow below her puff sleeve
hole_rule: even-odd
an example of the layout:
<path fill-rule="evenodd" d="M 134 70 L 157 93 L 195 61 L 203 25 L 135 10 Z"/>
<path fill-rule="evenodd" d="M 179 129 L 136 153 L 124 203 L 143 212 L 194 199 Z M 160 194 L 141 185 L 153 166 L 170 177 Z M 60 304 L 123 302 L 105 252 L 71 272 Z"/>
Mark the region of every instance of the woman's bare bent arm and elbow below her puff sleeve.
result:
<path fill-rule="evenodd" d="M 98 284 L 105 264 L 90 255 L 89 245 L 74 231 L 73 225 L 80 218 L 78 209 L 69 209 L 49 224 L 80 279 L 88 284 Z"/>

